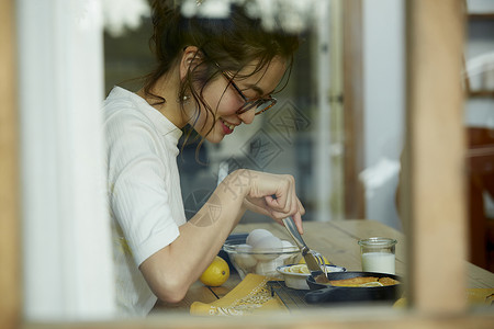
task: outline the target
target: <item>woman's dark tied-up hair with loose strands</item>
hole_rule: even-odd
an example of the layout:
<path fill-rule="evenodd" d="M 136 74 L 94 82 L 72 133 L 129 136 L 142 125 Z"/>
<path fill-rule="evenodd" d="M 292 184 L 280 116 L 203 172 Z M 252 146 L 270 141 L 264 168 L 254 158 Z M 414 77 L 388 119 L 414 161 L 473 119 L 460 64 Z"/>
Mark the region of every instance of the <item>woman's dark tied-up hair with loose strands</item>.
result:
<path fill-rule="evenodd" d="M 299 47 L 296 35 L 285 33 L 281 29 L 266 31 L 260 20 L 247 15 L 240 5 L 232 5 L 231 14 L 226 19 L 205 19 L 184 18 L 180 7 L 175 7 L 173 2 L 176 1 L 154 0 L 151 5 L 154 34 L 150 46 L 158 66 L 146 77 L 144 91 L 148 98 L 156 100 L 154 104 L 167 101 L 154 94 L 153 87 L 162 75 L 179 64 L 187 46 L 200 49 L 201 54 L 197 55 L 200 65 L 189 69 L 180 83 L 178 99 L 182 100 L 183 95 L 190 93 L 198 105 L 202 104 L 207 110 L 207 115 L 214 116 L 214 112 L 204 102 L 202 92 L 220 73 L 217 66 L 224 71 L 232 72 L 235 78 L 247 78 L 238 75 L 247 64 L 258 60 L 251 73 L 254 75 L 267 67 L 274 57 L 280 56 L 288 60 L 287 72 L 290 76 L 293 53 Z M 182 102 L 181 106 L 183 109 Z M 207 134 L 212 128 L 210 127 Z"/>

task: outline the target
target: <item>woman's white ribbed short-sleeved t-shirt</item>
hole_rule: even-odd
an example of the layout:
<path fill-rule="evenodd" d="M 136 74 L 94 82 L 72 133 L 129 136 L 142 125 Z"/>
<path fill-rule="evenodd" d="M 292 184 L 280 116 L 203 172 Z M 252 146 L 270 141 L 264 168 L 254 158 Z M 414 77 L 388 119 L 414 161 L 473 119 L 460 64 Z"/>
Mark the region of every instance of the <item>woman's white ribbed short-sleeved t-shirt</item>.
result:
<path fill-rule="evenodd" d="M 138 266 L 171 243 L 186 223 L 177 168 L 182 132 L 120 87 L 103 111 L 116 304 L 122 315 L 146 316 L 157 297 Z"/>

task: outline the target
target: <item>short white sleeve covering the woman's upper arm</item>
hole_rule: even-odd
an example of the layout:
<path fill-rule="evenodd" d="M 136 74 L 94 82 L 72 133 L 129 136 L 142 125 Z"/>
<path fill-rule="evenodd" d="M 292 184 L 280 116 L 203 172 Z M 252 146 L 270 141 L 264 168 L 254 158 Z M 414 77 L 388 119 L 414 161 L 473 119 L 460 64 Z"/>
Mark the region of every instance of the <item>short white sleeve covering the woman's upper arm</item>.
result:
<path fill-rule="evenodd" d="M 105 124 L 110 204 L 138 266 L 179 236 L 165 183 L 169 170 L 146 117 L 123 111 Z"/>

